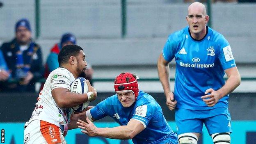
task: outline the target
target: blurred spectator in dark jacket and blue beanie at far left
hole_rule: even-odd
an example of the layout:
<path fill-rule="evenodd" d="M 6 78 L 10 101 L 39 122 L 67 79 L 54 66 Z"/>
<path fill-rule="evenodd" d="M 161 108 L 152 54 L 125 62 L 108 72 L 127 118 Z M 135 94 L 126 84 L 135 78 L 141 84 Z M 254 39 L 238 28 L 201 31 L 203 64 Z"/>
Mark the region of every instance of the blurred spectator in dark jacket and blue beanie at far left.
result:
<path fill-rule="evenodd" d="M 43 75 L 41 48 L 32 40 L 27 19 L 16 23 L 15 34 L 13 40 L 3 43 L 0 48 L 14 83 L 1 82 L 0 91 L 34 92 L 35 82 Z"/>

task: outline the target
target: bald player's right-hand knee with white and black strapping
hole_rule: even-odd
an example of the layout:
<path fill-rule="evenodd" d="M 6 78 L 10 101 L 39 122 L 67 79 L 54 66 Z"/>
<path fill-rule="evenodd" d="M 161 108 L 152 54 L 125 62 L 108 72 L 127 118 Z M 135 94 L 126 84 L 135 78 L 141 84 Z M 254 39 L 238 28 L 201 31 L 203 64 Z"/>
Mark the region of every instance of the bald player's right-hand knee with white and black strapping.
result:
<path fill-rule="evenodd" d="M 214 144 L 230 144 L 229 133 L 215 133 L 212 135 Z"/>

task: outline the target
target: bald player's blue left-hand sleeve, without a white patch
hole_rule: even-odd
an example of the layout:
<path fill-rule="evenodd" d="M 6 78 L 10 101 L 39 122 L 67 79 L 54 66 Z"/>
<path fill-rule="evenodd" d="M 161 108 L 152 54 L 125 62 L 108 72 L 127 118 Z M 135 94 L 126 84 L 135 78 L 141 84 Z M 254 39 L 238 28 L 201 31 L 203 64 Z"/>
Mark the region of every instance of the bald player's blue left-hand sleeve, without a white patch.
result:
<path fill-rule="evenodd" d="M 169 37 L 162 50 L 162 55 L 167 62 L 171 62 L 171 60 L 174 58 L 175 50 L 176 50 L 176 42 L 173 41 L 171 37 Z"/>

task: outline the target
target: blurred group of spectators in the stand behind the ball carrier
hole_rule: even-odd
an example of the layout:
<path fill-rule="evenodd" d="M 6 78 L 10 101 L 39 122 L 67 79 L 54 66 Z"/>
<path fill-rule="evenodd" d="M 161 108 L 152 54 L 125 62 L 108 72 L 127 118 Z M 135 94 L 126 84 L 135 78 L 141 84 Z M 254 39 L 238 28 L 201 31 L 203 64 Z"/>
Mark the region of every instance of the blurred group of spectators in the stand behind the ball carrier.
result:
<path fill-rule="evenodd" d="M 15 37 L 0 47 L 0 92 L 35 92 L 35 84 L 59 67 L 58 54 L 62 47 L 75 45 L 72 33 L 62 35 L 59 43 L 50 49 L 43 64 L 41 47 L 32 39 L 30 22 L 23 18 L 15 25 Z M 85 78 L 92 83 L 93 69 L 88 64 Z"/>

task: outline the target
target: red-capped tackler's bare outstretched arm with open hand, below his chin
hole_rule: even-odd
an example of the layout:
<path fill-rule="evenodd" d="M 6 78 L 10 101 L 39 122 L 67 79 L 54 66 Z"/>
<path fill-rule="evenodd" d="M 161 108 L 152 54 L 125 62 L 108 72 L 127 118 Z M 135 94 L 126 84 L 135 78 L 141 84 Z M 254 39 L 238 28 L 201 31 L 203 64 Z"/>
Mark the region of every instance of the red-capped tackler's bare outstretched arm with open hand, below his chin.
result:
<path fill-rule="evenodd" d="M 81 132 L 89 136 L 101 136 L 111 139 L 132 139 L 144 130 L 144 126 L 141 122 L 131 119 L 126 126 L 117 126 L 114 128 L 97 128 L 89 118 L 86 118 L 87 122 L 78 120 L 78 128 L 81 128 Z"/>

